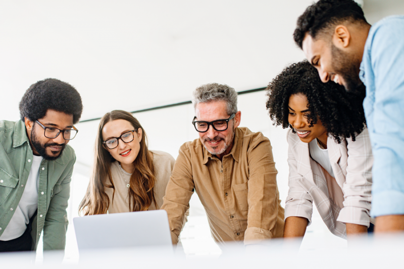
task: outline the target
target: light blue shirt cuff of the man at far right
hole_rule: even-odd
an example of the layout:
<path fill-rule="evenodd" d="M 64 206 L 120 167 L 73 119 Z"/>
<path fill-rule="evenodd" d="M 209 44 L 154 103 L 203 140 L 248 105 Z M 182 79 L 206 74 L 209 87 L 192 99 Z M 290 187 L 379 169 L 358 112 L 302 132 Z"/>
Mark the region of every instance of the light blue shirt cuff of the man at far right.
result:
<path fill-rule="evenodd" d="M 404 193 L 387 190 L 373 192 L 372 196 L 372 209 L 370 210 L 372 217 L 404 214 Z"/>

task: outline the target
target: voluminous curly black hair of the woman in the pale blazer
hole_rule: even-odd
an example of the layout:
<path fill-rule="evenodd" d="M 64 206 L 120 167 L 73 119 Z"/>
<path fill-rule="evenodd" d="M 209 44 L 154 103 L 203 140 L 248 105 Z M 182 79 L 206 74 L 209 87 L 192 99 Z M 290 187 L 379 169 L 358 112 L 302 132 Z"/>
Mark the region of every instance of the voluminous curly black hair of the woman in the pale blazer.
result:
<path fill-rule="evenodd" d="M 366 126 L 362 106 L 365 92 L 350 93 L 332 81 L 321 82 L 316 68 L 307 60 L 286 67 L 269 83 L 266 91 L 270 118 L 274 125 L 282 125 L 284 129 L 292 128 L 288 122 L 289 97 L 299 93 L 308 100 L 309 126 L 320 119 L 338 143 L 347 137 L 355 141 Z"/>

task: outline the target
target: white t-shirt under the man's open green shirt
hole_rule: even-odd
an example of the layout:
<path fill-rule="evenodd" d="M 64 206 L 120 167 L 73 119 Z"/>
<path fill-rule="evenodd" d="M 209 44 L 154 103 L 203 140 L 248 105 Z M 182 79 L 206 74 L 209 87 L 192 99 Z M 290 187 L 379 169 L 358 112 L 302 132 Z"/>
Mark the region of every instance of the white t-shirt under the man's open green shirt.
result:
<path fill-rule="evenodd" d="M 0 236 L 0 240 L 9 241 L 22 236 L 27 229 L 29 219 L 34 216 L 38 208 L 38 178 L 42 159 L 41 156 L 33 156 L 31 170 L 29 171 L 21 200 L 17 208 L 14 208 L 14 215 L 4 230 L 4 233 Z"/>

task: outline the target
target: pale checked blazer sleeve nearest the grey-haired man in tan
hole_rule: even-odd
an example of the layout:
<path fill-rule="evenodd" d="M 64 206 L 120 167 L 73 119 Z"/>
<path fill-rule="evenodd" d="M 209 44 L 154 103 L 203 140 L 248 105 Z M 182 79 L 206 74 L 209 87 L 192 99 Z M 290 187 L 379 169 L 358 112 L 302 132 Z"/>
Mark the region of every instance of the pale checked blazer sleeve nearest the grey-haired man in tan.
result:
<path fill-rule="evenodd" d="M 308 226 L 312 223 L 313 214 L 313 198 L 309 192 L 304 188 L 300 181 L 304 180 L 300 174 L 297 173 L 297 161 L 294 157 L 293 148 L 296 146 L 295 141 L 287 135 L 288 158 L 289 164 L 289 192 L 285 201 L 285 220 L 288 217 L 301 217 L 308 220 Z"/>

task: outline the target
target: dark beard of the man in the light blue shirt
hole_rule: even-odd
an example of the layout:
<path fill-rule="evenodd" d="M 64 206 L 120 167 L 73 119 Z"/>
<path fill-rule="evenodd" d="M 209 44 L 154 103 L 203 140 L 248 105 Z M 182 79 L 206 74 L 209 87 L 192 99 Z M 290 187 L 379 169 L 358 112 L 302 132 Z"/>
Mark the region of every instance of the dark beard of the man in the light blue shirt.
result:
<path fill-rule="evenodd" d="M 355 59 L 355 57 L 340 50 L 334 44 L 331 44 L 331 55 L 333 59 L 332 67 L 335 73 L 343 78 L 346 91 L 359 95 L 364 94 L 366 88 L 358 75 L 361 60 Z"/>

